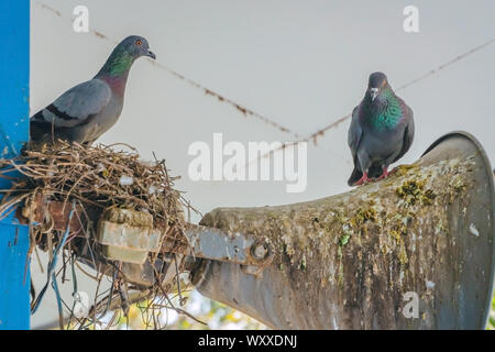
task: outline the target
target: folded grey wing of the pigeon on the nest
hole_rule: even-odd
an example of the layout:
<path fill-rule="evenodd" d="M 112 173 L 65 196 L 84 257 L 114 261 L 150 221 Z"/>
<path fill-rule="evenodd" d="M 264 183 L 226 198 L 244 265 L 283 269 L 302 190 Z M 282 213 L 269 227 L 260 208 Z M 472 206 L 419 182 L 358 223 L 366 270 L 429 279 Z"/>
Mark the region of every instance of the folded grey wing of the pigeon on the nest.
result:
<path fill-rule="evenodd" d="M 98 114 L 110 101 L 112 91 L 107 82 L 91 79 L 70 88 L 53 103 L 36 113 L 32 120 L 52 122 L 57 128 L 84 124 Z"/>

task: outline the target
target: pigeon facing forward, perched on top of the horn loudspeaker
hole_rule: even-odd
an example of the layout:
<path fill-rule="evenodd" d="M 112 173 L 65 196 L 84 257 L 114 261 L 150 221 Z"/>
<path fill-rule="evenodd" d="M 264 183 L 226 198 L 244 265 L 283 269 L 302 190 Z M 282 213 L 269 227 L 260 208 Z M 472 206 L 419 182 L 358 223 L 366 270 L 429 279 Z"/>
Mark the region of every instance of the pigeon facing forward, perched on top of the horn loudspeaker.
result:
<path fill-rule="evenodd" d="M 366 94 L 352 111 L 348 144 L 354 161 L 349 186 L 387 177 L 388 166 L 407 153 L 415 136 L 413 110 L 383 73 L 370 75 Z"/>

